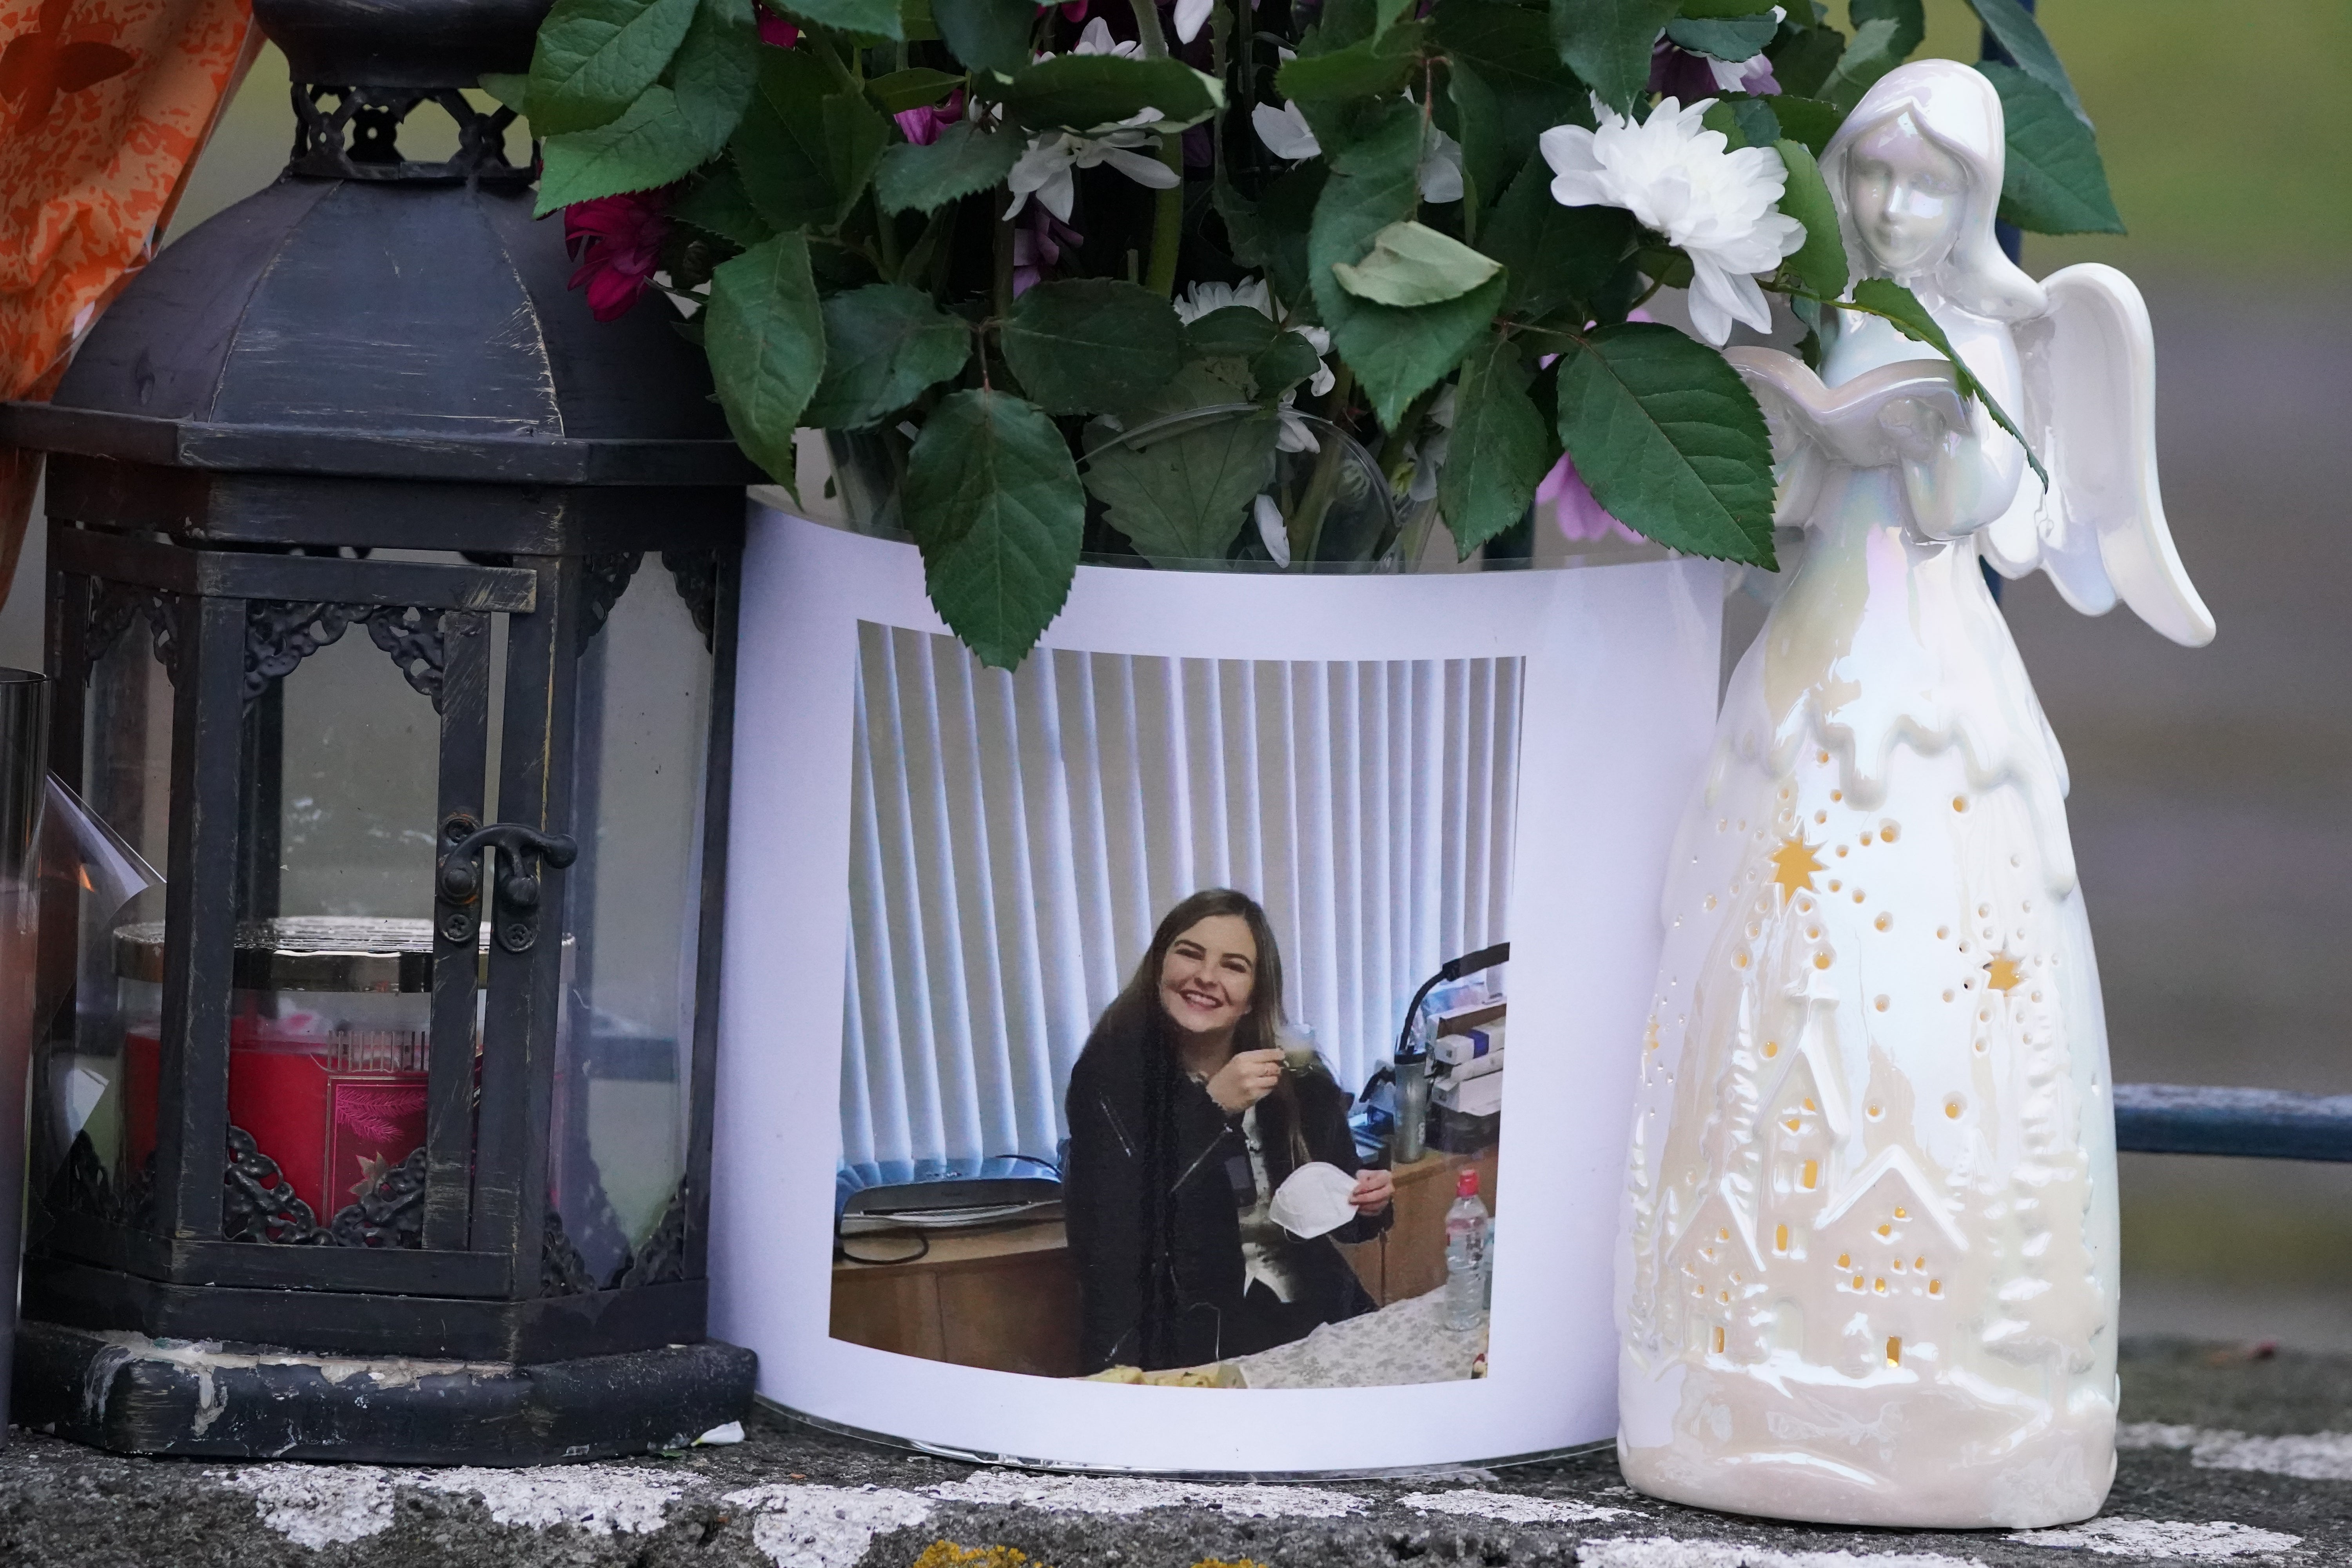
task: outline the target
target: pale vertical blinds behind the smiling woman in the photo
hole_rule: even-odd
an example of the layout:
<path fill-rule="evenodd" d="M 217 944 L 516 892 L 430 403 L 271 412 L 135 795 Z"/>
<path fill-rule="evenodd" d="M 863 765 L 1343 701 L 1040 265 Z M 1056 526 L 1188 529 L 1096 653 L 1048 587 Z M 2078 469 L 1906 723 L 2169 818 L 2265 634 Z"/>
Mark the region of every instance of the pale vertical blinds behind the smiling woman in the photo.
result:
<path fill-rule="evenodd" d="M 1508 940 L 1519 661 L 1044 651 L 858 625 L 842 1161 L 1051 1159 L 1160 917 L 1232 886 L 1345 1088 Z"/>

